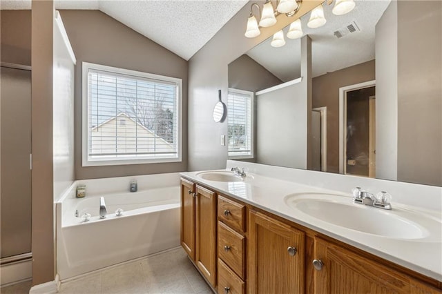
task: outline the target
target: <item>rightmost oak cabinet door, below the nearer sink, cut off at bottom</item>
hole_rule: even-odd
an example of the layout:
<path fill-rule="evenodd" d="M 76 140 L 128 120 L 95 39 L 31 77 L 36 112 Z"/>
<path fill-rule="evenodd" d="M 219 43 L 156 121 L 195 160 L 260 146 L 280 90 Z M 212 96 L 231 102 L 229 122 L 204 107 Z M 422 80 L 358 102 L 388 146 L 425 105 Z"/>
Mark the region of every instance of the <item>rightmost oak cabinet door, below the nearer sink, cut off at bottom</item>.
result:
<path fill-rule="evenodd" d="M 411 293 L 410 279 L 392 268 L 316 238 L 314 293 Z M 308 262 L 308 261 L 307 261 Z M 312 262 L 312 261 L 310 261 Z"/>

